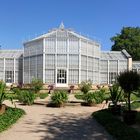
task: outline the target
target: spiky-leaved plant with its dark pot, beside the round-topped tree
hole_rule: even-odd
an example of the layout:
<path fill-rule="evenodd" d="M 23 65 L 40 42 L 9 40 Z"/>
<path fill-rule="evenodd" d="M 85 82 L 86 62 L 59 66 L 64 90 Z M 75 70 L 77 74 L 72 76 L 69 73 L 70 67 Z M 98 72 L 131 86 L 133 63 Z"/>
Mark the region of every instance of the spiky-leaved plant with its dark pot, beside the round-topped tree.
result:
<path fill-rule="evenodd" d="M 109 99 L 112 101 L 112 104 L 109 104 L 112 114 L 120 115 L 121 114 L 121 105 L 118 105 L 118 101 L 122 95 L 122 89 L 118 84 L 114 84 L 109 87 Z"/>

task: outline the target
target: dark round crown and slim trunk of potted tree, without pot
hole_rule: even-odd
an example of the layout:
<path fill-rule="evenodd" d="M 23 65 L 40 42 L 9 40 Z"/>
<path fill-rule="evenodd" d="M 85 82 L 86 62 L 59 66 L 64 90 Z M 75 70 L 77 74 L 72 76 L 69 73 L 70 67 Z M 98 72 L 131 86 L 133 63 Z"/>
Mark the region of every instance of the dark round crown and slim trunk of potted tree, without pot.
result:
<path fill-rule="evenodd" d="M 134 71 L 124 71 L 118 76 L 118 83 L 127 95 L 128 111 L 131 111 L 130 96 L 135 90 L 140 87 L 140 75 Z"/>

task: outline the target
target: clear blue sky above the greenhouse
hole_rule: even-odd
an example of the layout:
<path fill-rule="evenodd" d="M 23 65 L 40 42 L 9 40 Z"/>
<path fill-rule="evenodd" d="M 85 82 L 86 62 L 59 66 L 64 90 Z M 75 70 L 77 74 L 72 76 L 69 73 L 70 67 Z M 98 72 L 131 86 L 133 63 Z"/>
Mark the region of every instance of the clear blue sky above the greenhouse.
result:
<path fill-rule="evenodd" d="M 140 0 L 0 0 L 0 45 L 22 48 L 61 21 L 110 50 L 110 38 L 122 27 L 140 26 Z"/>

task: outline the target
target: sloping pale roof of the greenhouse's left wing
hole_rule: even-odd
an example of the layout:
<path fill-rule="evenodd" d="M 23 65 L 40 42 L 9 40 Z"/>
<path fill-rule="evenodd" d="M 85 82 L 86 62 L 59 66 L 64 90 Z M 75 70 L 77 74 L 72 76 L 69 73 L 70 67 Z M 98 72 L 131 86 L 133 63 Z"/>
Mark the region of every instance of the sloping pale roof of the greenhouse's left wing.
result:
<path fill-rule="evenodd" d="M 23 50 L 0 50 L 0 58 L 19 58 Z"/>

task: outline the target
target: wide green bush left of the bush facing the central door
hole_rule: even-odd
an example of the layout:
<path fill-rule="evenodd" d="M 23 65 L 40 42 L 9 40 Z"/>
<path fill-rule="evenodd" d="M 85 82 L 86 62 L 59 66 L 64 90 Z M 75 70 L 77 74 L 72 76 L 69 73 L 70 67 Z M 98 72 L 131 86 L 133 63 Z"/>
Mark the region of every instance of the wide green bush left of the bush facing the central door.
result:
<path fill-rule="evenodd" d="M 18 94 L 18 100 L 23 104 L 32 105 L 35 100 L 35 94 L 29 90 L 21 90 Z"/>

